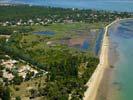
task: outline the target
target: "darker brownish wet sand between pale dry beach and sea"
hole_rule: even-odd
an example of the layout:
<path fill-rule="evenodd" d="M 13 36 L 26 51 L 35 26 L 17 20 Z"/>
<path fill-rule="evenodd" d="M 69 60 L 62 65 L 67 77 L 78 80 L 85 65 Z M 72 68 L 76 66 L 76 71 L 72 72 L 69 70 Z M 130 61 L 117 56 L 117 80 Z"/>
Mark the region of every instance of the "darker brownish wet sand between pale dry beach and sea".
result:
<path fill-rule="evenodd" d="M 114 78 L 114 71 L 116 68 L 115 63 L 119 59 L 119 55 L 116 51 L 116 48 L 117 44 L 109 41 L 109 51 L 108 51 L 109 66 L 104 71 L 104 76 L 98 87 L 96 100 L 115 100 L 112 99 L 116 97 L 114 92 L 115 88 L 112 87 L 114 87 L 113 78 Z"/>

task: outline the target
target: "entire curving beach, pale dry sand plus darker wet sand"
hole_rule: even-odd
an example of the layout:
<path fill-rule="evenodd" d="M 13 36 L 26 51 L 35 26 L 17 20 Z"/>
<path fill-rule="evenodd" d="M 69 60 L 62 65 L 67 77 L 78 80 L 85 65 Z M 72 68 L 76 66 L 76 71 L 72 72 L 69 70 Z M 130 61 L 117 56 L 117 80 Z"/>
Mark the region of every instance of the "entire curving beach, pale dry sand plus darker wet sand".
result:
<path fill-rule="evenodd" d="M 101 45 L 101 52 L 99 56 L 100 62 L 86 84 L 86 86 L 88 86 L 88 89 L 84 93 L 83 100 L 110 100 L 108 96 L 111 91 L 108 90 L 110 89 L 109 86 L 111 86 L 111 80 L 114 77 L 112 76 L 113 67 L 111 66 L 118 60 L 119 57 L 117 56 L 119 55 L 117 54 L 117 51 L 114 49 L 114 46 L 112 46 L 110 43 L 111 41 L 108 35 L 108 28 L 117 22 L 130 19 L 133 18 L 116 19 L 115 21 L 113 21 L 105 27 L 103 42 Z M 112 55 L 110 52 L 113 52 L 114 54 Z M 109 61 L 110 57 L 113 58 L 113 60 Z M 111 93 L 111 95 L 114 94 Z"/>

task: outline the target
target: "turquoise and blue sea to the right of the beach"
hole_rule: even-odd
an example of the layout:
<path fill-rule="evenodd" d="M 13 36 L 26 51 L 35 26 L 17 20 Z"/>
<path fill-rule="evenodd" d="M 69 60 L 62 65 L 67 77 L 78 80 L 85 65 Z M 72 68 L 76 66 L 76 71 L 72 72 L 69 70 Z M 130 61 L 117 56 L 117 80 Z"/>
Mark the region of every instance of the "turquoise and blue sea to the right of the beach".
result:
<path fill-rule="evenodd" d="M 129 24 L 130 23 L 130 24 Z M 124 27 L 124 28 L 123 28 Z M 133 100 L 133 20 L 123 21 L 110 28 L 111 41 L 118 45 L 119 59 L 115 64 L 114 82 L 120 100 Z"/>

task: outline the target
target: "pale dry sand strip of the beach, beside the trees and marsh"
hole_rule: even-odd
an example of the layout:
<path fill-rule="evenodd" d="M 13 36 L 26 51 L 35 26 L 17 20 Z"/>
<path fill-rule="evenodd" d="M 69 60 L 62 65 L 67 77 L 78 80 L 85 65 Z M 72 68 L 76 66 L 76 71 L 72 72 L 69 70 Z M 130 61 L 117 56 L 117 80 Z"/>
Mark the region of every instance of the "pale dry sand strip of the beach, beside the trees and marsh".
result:
<path fill-rule="evenodd" d="M 106 87 L 107 85 L 107 75 L 109 78 L 110 73 L 110 64 L 109 64 L 109 36 L 108 36 L 108 28 L 116 23 L 118 20 L 115 20 L 111 24 L 107 25 L 105 27 L 105 33 L 103 37 L 103 43 L 101 46 L 101 53 L 100 53 L 100 63 L 98 64 L 95 72 L 93 73 L 92 77 L 90 80 L 87 82 L 88 89 L 85 92 L 85 97 L 84 100 L 97 100 L 97 97 L 99 97 L 99 88 L 101 86 Z M 106 75 L 106 77 L 105 77 Z M 104 81 L 103 81 L 104 80 Z M 102 85 L 101 85 L 102 84 Z M 103 90 L 104 91 L 104 90 Z M 106 92 L 105 92 L 106 95 Z M 98 99 L 99 100 L 99 99 Z M 106 100 L 105 97 L 102 97 L 102 100 Z"/>

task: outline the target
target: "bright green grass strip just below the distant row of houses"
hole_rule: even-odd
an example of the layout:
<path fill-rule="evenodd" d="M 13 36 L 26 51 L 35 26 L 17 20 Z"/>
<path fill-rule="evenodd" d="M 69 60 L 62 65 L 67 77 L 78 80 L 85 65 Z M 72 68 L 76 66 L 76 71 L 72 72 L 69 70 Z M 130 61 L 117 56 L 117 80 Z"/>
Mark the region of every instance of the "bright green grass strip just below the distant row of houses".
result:
<path fill-rule="evenodd" d="M 100 29 L 103 28 L 107 23 L 55 23 L 48 26 L 32 26 L 34 31 L 53 31 L 56 36 L 73 36 L 76 34 L 77 30 L 89 31 L 90 29 Z"/>

